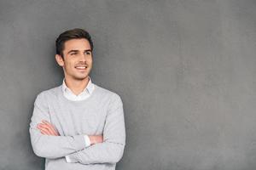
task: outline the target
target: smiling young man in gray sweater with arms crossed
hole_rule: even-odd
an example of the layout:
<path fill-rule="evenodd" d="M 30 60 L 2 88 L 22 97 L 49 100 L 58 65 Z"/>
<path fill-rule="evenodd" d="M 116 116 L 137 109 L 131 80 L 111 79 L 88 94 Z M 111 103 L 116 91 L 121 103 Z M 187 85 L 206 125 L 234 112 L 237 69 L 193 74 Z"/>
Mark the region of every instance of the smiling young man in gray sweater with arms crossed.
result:
<path fill-rule="evenodd" d="M 46 158 L 46 170 L 113 170 L 125 148 L 122 100 L 91 82 L 87 31 L 65 31 L 55 44 L 65 78 L 38 94 L 29 128 L 32 149 Z"/>

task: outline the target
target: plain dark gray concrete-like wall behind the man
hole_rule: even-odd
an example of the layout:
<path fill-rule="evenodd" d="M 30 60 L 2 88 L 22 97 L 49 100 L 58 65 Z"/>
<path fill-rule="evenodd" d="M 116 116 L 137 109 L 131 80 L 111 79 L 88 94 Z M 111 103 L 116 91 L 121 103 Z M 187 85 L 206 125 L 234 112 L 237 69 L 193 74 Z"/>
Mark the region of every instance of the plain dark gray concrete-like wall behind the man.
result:
<path fill-rule="evenodd" d="M 256 169 L 255 0 L 1 0 L 1 170 L 44 168 L 28 124 L 75 27 L 95 42 L 93 81 L 124 102 L 117 169 Z"/>

